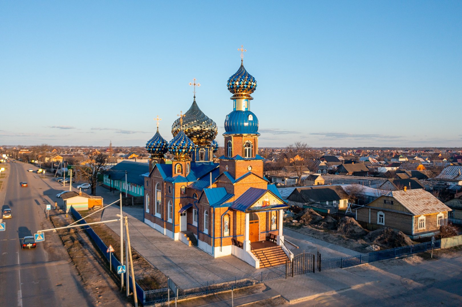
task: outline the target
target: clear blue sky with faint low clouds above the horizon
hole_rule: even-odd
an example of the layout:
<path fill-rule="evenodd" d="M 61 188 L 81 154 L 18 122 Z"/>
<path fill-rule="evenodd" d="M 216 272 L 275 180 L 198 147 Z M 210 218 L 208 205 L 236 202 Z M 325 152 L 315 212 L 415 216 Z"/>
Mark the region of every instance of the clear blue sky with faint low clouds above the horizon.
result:
<path fill-rule="evenodd" d="M 170 3 L 171 2 L 171 3 Z M 0 1 L 0 144 L 144 146 L 240 65 L 260 146 L 462 146 L 461 1 Z"/>

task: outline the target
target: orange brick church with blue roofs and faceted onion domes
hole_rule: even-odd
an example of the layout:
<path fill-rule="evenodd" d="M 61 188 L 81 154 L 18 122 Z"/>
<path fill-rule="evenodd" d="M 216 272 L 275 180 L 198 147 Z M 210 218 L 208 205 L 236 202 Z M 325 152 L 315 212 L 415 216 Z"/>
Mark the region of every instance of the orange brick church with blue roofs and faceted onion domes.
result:
<path fill-rule="evenodd" d="M 250 111 L 257 83 L 240 51 L 241 65 L 227 82 L 232 111 L 225 118 L 225 154 L 214 163 L 217 124 L 201 111 L 194 93 L 189 110 L 172 124 L 173 139 L 167 142 L 157 128 L 146 143 L 151 156 L 143 175 L 144 221 L 213 257 L 234 255 L 261 268 L 286 263 L 293 255 L 282 233 L 288 206 L 263 176 L 257 154 L 258 118 Z M 173 155 L 171 164 L 164 158 L 167 152 Z"/>

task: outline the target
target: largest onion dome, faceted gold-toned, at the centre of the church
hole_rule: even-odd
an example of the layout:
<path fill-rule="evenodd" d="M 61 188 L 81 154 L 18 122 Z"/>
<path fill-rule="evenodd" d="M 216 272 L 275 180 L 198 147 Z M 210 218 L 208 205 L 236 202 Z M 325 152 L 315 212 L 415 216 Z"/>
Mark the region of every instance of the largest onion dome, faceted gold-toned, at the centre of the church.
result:
<path fill-rule="evenodd" d="M 184 115 L 182 125 L 179 118 L 173 122 L 172 135 L 176 136 L 180 130 L 183 130 L 195 145 L 209 146 L 218 134 L 217 124 L 201 111 L 195 96 L 193 104 Z"/>

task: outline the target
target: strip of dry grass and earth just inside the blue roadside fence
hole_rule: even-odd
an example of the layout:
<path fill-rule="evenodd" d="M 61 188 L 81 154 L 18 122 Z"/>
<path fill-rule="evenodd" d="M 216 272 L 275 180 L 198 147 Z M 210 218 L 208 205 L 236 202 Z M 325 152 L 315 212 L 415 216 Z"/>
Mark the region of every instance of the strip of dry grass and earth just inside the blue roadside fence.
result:
<path fill-rule="evenodd" d="M 82 217 L 92 213 L 91 210 L 81 211 L 80 214 Z M 99 222 L 101 221 L 101 216 L 103 213 L 96 213 L 88 218 L 85 218 L 87 223 Z M 114 255 L 117 259 L 120 259 L 120 237 L 112 231 L 108 226 L 93 225 L 93 230 L 96 234 L 103 240 L 103 242 L 115 249 Z M 124 253 L 125 253 L 125 240 L 124 240 Z M 143 256 L 138 254 L 134 248 L 132 249 L 132 258 L 134 262 L 134 272 L 135 280 L 144 290 L 155 290 L 161 288 L 167 288 L 167 276 L 164 273 L 160 272 L 155 266 L 152 266 Z M 124 255 L 125 261 L 127 260 L 127 255 Z"/>

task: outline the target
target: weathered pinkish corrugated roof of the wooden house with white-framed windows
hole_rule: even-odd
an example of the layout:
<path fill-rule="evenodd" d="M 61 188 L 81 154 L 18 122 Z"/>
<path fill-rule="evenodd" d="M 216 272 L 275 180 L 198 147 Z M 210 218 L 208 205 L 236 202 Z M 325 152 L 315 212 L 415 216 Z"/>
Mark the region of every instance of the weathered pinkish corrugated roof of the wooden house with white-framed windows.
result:
<path fill-rule="evenodd" d="M 399 201 L 413 215 L 451 211 L 450 207 L 423 189 L 390 191 L 385 196 L 393 197 Z"/>

